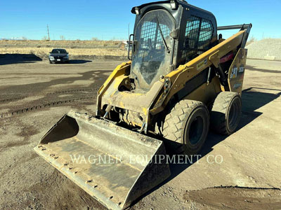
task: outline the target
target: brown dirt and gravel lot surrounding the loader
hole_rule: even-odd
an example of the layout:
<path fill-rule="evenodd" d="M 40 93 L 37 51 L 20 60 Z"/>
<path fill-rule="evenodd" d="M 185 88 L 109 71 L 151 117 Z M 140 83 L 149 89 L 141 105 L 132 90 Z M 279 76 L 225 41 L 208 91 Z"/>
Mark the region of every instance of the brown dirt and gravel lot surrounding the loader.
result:
<path fill-rule="evenodd" d="M 33 148 L 70 109 L 94 113 L 96 88 L 119 62 L 8 63 L 0 66 L 0 209 L 105 209 Z M 237 132 L 210 133 L 199 162 L 170 165 L 171 177 L 131 209 L 281 209 L 280 81 L 281 62 L 248 60 Z"/>

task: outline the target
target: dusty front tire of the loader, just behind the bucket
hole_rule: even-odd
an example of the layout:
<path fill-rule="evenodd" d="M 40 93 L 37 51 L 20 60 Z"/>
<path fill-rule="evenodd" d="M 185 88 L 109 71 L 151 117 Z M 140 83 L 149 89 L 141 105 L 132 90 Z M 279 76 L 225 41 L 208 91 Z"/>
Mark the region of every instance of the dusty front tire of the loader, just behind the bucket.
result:
<path fill-rule="evenodd" d="M 163 137 L 178 144 L 171 148 L 176 154 L 195 155 L 207 139 L 209 111 L 202 102 L 181 100 L 166 115 Z"/>

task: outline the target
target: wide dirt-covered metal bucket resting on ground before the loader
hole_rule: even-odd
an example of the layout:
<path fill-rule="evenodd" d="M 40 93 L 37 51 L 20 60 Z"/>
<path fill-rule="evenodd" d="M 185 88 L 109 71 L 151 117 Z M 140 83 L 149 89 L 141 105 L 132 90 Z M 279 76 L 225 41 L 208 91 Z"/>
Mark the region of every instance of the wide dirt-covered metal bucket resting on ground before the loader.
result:
<path fill-rule="evenodd" d="M 170 176 L 162 141 L 74 111 L 34 150 L 108 209 L 126 209 Z"/>

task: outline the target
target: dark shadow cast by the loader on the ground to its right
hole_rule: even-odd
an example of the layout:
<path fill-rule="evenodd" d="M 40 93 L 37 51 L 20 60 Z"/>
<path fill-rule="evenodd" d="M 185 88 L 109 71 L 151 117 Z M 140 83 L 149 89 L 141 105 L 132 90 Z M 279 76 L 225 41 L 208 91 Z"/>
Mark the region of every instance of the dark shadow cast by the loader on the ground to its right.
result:
<path fill-rule="evenodd" d="M 277 93 L 267 93 L 266 90 L 274 90 Z M 261 92 L 260 92 L 261 91 Z M 274 99 L 277 99 L 277 97 L 280 97 L 281 90 L 275 90 L 275 89 L 265 89 L 265 88 L 259 88 L 259 87 L 250 87 L 246 90 L 242 91 L 242 116 L 240 119 L 240 124 L 237 127 L 237 130 L 242 129 L 244 126 L 251 123 L 253 120 L 261 116 L 263 113 L 256 111 L 257 109 L 261 108 L 262 106 L 265 106 L 266 104 L 272 102 Z M 202 148 L 202 151 L 200 152 L 200 156 L 198 160 L 203 158 L 205 155 L 210 153 L 213 150 L 213 147 L 226 139 L 228 136 L 222 136 L 219 134 L 215 134 L 214 132 L 209 132 L 209 136 L 206 140 L 206 143 L 204 144 L 204 147 Z M 167 148 L 167 146 L 166 146 Z M 167 153 L 171 153 L 171 151 L 167 151 Z M 193 158 L 193 163 L 197 161 L 197 158 Z M 148 193 L 143 195 L 141 198 L 139 198 L 136 202 L 141 200 L 143 197 L 149 195 L 153 191 L 157 190 L 161 186 L 164 186 L 164 184 L 168 183 L 172 179 L 174 179 L 176 176 L 181 174 L 185 169 L 190 167 L 192 164 L 170 164 L 171 169 L 171 176 L 169 179 L 166 179 L 163 183 L 159 184 L 159 186 L 153 188 Z M 136 203 L 135 202 L 135 203 Z"/>

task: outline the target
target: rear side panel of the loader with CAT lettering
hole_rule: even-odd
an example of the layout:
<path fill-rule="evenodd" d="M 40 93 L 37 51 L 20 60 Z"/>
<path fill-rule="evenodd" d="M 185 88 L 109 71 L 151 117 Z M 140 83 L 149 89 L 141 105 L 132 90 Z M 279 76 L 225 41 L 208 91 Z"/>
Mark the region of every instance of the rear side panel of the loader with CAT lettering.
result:
<path fill-rule="evenodd" d="M 228 85 L 231 92 L 242 93 L 244 71 L 247 59 L 247 49 L 238 50 L 233 63 L 228 70 Z"/>

